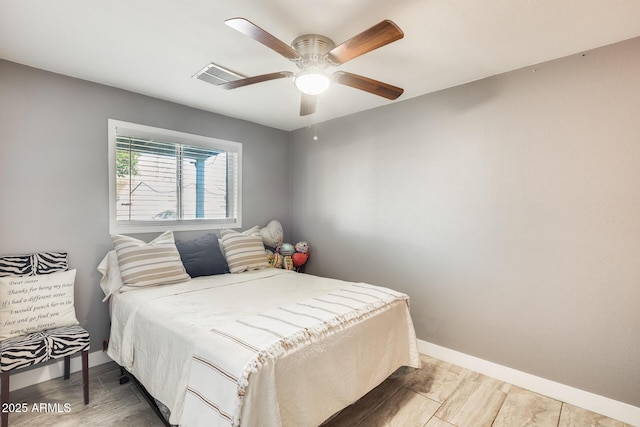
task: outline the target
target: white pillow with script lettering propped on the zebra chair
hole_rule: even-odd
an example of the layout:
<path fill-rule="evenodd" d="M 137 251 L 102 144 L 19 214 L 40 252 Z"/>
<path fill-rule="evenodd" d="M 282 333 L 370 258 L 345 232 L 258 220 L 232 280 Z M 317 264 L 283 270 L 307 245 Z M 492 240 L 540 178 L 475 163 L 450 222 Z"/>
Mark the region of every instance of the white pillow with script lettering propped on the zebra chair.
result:
<path fill-rule="evenodd" d="M 0 340 L 77 325 L 76 270 L 0 277 Z"/>

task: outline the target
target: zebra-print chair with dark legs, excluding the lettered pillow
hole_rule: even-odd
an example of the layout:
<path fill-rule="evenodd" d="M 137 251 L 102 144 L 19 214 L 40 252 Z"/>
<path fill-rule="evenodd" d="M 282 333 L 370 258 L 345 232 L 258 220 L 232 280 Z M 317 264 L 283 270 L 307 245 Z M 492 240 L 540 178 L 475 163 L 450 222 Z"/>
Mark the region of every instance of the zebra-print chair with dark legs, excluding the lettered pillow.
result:
<path fill-rule="evenodd" d="M 64 252 L 38 253 L 24 256 L 0 257 L 0 277 L 35 276 L 67 270 Z M 16 369 L 64 358 L 64 379 L 69 378 L 71 355 L 82 354 L 82 383 L 84 403 L 89 403 L 89 333 L 78 325 L 38 331 L 0 341 L 0 401 L 2 407 L 10 403 L 9 373 Z M 9 414 L 3 411 L 1 427 L 9 424 Z"/>

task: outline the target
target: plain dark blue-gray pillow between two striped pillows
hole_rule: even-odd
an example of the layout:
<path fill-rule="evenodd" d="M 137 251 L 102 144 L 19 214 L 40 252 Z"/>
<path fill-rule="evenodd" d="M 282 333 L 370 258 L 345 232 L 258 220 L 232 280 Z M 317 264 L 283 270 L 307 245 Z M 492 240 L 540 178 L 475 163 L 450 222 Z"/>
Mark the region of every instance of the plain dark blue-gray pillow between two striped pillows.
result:
<path fill-rule="evenodd" d="M 218 237 L 213 234 L 205 234 L 194 240 L 176 240 L 176 247 L 180 253 L 182 264 L 191 277 L 212 276 L 229 272 L 229 266 L 225 260 Z"/>

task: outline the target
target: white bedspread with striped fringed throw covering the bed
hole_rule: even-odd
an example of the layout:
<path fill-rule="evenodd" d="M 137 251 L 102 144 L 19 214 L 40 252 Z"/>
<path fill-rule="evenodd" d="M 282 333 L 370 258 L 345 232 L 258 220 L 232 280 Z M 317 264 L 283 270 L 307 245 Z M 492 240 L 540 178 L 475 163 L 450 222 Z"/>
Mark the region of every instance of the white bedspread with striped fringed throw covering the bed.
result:
<path fill-rule="evenodd" d="M 405 295 L 273 269 L 117 294 L 108 354 L 184 426 L 318 425 L 420 363 Z"/>

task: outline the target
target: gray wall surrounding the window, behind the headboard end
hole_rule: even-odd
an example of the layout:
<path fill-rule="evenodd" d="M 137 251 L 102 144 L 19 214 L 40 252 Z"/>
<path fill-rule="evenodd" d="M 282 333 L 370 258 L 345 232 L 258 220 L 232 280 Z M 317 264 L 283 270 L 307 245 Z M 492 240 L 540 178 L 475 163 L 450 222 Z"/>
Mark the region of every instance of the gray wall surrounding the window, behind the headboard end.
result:
<path fill-rule="evenodd" d="M 287 228 L 289 214 L 286 132 L 0 60 L 0 254 L 69 253 L 93 351 L 109 333 L 96 271 L 113 247 L 108 118 L 241 142 L 243 228 Z"/>

